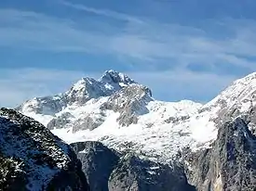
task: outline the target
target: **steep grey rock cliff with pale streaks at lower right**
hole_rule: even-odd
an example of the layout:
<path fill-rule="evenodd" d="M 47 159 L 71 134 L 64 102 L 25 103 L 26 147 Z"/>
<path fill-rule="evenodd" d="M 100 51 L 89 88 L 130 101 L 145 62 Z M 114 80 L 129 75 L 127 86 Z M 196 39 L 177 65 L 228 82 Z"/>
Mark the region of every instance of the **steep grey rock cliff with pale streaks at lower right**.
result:
<path fill-rule="evenodd" d="M 212 148 L 192 155 L 188 174 L 198 191 L 256 189 L 256 136 L 241 118 L 220 127 Z"/>

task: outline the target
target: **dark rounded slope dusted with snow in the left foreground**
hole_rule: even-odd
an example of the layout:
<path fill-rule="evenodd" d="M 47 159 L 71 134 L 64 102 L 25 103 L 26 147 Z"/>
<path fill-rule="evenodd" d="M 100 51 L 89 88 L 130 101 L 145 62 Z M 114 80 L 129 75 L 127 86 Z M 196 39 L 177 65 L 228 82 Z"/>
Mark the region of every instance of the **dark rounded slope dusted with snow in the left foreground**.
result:
<path fill-rule="evenodd" d="M 88 190 L 70 146 L 42 124 L 0 109 L 0 190 Z"/>

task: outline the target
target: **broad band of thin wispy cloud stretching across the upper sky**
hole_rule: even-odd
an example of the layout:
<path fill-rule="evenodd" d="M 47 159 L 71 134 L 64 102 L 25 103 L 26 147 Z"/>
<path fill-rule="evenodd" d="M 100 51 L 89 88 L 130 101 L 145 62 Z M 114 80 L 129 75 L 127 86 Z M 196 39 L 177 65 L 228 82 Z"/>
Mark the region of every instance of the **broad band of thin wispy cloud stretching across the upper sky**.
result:
<path fill-rule="evenodd" d="M 81 28 L 79 23 L 71 19 L 0 9 L 0 46 L 112 55 L 144 63 L 149 69 L 167 62 L 171 69 L 173 65 L 179 69 L 189 69 L 187 67 L 193 63 L 212 66 L 209 72 L 222 63 L 255 69 L 254 60 L 249 59 L 256 55 L 256 37 L 252 32 L 256 26 L 254 20 L 223 19 L 222 25 L 229 28 L 233 35 L 218 39 L 212 38 L 203 29 L 139 19 L 66 1 L 61 3 L 102 17 L 127 20 L 127 23 L 118 29 L 111 22 L 103 24 L 97 20 Z M 101 24 L 104 29 L 99 27 Z M 97 30 L 91 27 L 96 25 Z"/>

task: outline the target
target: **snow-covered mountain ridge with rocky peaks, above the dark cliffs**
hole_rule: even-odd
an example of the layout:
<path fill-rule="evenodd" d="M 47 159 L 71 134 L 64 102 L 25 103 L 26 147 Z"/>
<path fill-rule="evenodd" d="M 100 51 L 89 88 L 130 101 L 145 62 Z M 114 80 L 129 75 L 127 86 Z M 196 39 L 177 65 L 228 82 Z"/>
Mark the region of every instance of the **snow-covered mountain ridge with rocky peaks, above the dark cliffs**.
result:
<path fill-rule="evenodd" d="M 244 100 L 253 94 L 249 89 L 256 89 L 256 83 L 253 83 L 256 82 L 255 76 L 256 73 L 252 73 L 237 80 L 219 96 L 202 105 L 190 100 L 157 101 L 148 87 L 123 73 L 108 70 L 99 80 L 83 78 L 82 81 L 87 79 L 87 83 L 80 80 L 64 93 L 70 95 L 75 90 L 76 98 L 86 97 L 86 100 L 74 98 L 74 101 L 70 98 L 72 96 L 65 96 L 63 101 L 59 96 L 47 96 L 50 101 L 46 97 L 41 98 L 43 101 L 39 98 L 37 102 L 33 99 L 18 109 L 41 121 L 68 143 L 100 141 L 119 151 L 132 149 L 147 158 L 159 157 L 169 162 L 182 147 L 190 146 L 194 151 L 209 147 L 217 137 L 219 123 L 231 117 L 223 113 L 234 113 L 233 118 L 246 115 L 253 107 L 247 106 L 249 104 Z M 105 90 L 99 91 L 99 87 Z M 89 94 L 84 94 L 85 89 Z M 82 94 L 77 90 L 82 90 Z M 87 96 L 95 95 L 95 92 L 97 96 L 88 99 Z M 57 102 L 52 104 L 54 99 Z M 64 105 L 61 104 L 63 102 Z M 39 105 L 40 109 L 34 105 Z M 47 115 L 40 111 L 44 111 L 45 105 L 53 108 Z M 32 112 L 27 108 L 32 108 Z"/>

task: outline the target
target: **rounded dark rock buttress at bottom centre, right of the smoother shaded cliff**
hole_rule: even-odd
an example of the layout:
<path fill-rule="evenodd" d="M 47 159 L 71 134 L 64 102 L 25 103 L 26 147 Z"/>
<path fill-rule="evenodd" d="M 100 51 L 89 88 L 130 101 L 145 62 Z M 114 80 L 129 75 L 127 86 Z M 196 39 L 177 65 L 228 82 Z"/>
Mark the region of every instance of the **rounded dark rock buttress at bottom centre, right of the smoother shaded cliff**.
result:
<path fill-rule="evenodd" d="M 140 159 L 132 154 L 123 156 L 109 180 L 110 191 L 193 191 L 182 169 Z"/>

